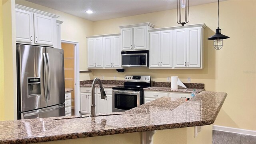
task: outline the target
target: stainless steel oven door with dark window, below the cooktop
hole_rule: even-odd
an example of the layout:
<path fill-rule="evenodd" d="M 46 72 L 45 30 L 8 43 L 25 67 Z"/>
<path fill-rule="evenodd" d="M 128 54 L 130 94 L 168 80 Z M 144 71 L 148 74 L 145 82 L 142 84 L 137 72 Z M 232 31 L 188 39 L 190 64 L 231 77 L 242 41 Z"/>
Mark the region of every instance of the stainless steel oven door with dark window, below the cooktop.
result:
<path fill-rule="evenodd" d="M 113 112 L 124 112 L 140 106 L 140 91 L 113 90 Z"/>

